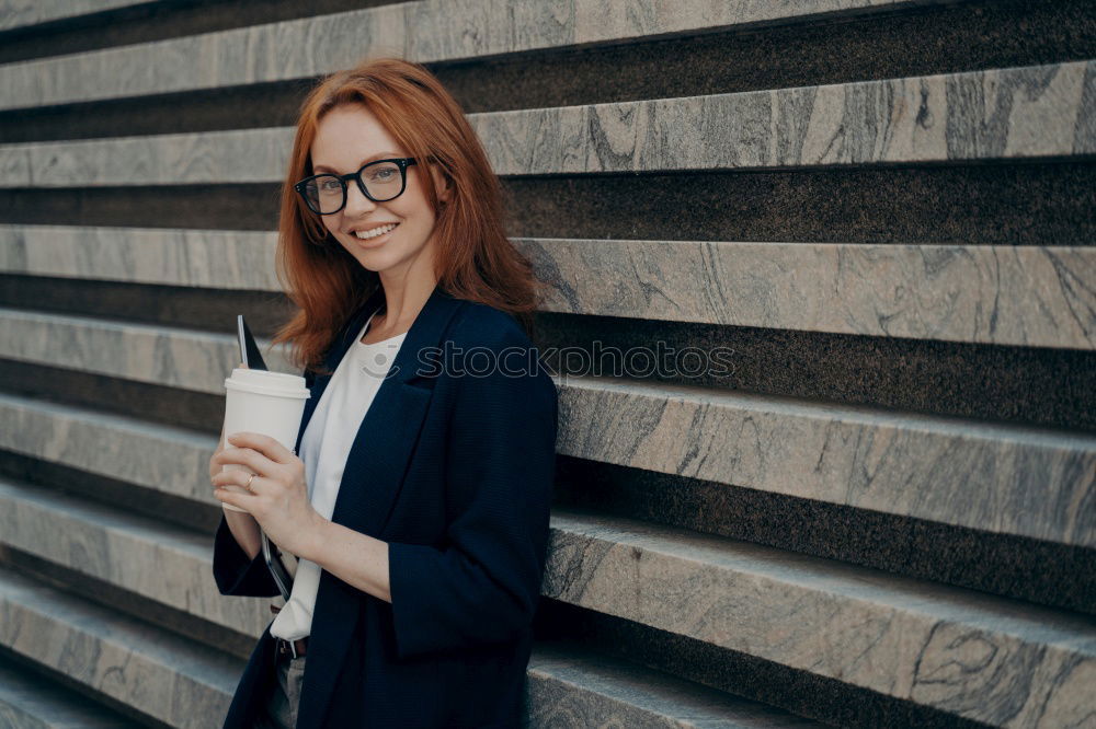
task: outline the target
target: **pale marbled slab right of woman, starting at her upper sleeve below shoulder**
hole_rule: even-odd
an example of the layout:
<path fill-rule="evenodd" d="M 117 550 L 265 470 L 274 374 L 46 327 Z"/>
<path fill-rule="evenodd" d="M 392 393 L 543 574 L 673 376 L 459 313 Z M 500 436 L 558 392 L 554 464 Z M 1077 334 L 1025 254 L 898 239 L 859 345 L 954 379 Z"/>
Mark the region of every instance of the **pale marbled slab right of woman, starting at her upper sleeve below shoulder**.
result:
<path fill-rule="evenodd" d="M 1096 439 L 696 386 L 566 378 L 564 455 L 1096 544 Z"/>

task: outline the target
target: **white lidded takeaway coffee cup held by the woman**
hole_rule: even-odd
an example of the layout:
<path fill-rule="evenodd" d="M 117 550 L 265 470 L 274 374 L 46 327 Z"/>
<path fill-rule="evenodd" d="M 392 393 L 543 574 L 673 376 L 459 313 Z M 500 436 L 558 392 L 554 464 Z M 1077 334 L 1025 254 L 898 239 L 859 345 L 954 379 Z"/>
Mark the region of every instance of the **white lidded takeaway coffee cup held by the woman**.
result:
<path fill-rule="evenodd" d="M 258 432 L 270 436 L 293 450 L 297 443 L 300 418 L 305 413 L 305 401 L 309 397 L 305 378 L 238 367 L 225 380 L 225 442 L 221 445 L 228 447 L 228 437 L 231 435 Z M 221 472 L 225 471 L 254 473 L 251 468 L 235 463 L 226 463 L 221 467 Z M 236 484 L 229 484 L 226 488 L 248 493 Z M 247 513 L 247 510 L 230 504 L 221 502 L 221 506 Z"/>

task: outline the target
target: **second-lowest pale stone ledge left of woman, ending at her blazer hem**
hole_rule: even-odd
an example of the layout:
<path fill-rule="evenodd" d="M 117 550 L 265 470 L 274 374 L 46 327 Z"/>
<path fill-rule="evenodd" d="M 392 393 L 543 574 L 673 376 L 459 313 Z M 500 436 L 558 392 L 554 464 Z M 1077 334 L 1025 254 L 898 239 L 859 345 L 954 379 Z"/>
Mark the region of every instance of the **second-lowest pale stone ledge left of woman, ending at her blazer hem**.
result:
<path fill-rule="evenodd" d="M 172 727 L 228 711 L 240 659 L 0 568 L 0 645 Z"/>

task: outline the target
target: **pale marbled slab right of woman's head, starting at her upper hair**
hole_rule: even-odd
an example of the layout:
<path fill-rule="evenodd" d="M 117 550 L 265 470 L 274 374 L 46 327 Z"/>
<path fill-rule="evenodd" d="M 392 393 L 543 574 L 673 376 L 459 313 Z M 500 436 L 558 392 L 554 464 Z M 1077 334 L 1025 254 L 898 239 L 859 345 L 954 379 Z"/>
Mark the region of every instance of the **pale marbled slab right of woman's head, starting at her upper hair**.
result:
<path fill-rule="evenodd" d="M 501 175 L 758 170 L 1088 154 L 1096 63 L 472 117 Z"/>

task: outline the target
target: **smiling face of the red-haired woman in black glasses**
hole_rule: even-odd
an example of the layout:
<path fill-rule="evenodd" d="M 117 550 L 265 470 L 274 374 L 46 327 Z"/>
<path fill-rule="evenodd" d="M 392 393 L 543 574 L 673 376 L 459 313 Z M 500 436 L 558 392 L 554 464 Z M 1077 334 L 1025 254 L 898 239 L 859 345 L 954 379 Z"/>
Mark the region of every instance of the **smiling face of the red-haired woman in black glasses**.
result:
<path fill-rule="evenodd" d="M 345 175 L 374 160 L 404 157 L 409 157 L 408 151 L 365 105 L 344 104 L 328 112 L 317 126 L 311 147 L 312 174 Z M 445 189 L 441 173 L 418 160 L 407 169 L 407 188 L 399 197 L 374 202 L 356 183 L 350 182 L 346 206 L 339 212 L 320 216 L 331 236 L 383 279 L 433 276 L 435 215 L 423 186 L 427 171 L 434 175 L 438 197 L 447 200 L 450 193 Z M 384 230 L 388 232 L 377 234 Z"/>

